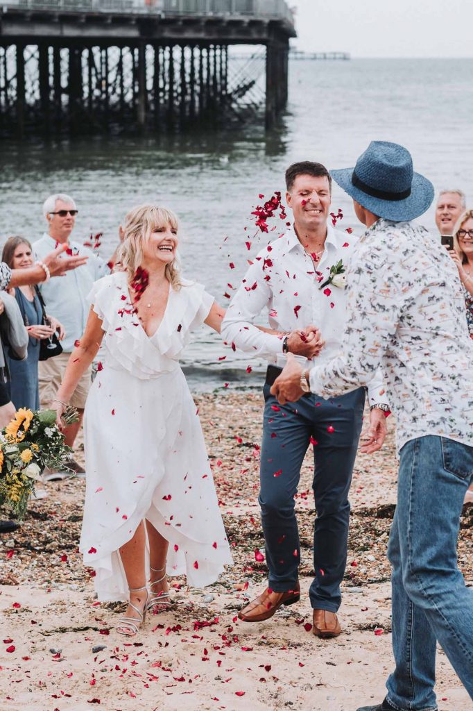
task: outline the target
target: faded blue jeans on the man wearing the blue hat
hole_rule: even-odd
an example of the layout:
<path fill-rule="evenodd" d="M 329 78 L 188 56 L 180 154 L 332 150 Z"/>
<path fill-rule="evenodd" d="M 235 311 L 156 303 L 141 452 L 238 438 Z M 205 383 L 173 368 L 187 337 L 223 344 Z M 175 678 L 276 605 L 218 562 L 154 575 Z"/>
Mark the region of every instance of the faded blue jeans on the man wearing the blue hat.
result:
<path fill-rule="evenodd" d="M 457 567 L 473 447 L 429 435 L 401 449 L 398 506 L 388 557 L 393 566 L 393 652 L 387 699 L 401 711 L 437 708 L 438 641 L 473 698 L 473 590 Z"/>

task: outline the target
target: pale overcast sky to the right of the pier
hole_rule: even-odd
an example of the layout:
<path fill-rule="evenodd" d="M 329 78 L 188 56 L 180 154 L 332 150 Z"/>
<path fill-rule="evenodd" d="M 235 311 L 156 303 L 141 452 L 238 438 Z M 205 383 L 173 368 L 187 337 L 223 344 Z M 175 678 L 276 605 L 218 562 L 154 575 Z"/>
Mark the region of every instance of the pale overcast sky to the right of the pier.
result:
<path fill-rule="evenodd" d="M 298 48 L 353 57 L 473 57 L 472 0 L 288 0 Z"/>

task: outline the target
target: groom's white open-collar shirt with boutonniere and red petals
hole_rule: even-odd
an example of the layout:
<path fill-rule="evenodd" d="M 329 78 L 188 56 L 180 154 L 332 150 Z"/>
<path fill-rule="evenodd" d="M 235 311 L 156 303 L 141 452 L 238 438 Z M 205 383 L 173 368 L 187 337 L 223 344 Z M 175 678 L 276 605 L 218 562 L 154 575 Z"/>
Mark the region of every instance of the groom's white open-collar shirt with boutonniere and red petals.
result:
<path fill-rule="evenodd" d="M 339 354 L 347 314 L 346 289 L 332 284 L 320 289 L 320 285 L 339 260 L 347 266 L 356 242 L 354 235 L 327 225 L 325 250 L 317 267 L 294 228 L 271 242 L 259 252 L 232 299 L 222 322 L 224 341 L 270 363 L 281 362 L 281 338 L 254 326 L 267 307 L 269 326 L 276 331 L 295 331 L 311 324 L 320 329 L 325 346 L 316 360 L 308 361 L 308 367 Z M 381 372 L 371 375 L 369 381 L 369 405 L 387 404 Z"/>

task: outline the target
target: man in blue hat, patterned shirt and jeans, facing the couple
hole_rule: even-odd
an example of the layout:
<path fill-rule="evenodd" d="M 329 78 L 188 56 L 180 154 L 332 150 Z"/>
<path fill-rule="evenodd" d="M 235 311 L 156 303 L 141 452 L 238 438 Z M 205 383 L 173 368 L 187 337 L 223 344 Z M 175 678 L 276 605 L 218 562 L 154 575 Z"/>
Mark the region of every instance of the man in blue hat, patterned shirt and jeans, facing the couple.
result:
<path fill-rule="evenodd" d="M 396 668 L 384 701 L 359 711 L 435 711 L 437 641 L 473 698 L 473 590 L 457 567 L 473 481 L 473 342 L 452 260 L 411 222 L 434 195 L 411 154 L 373 141 L 354 168 L 332 176 L 367 228 L 347 272 L 343 353 L 305 371 L 288 358 L 272 392 L 298 400 L 302 376 L 312 392 L 334 397 L 384 371 L 400 460 L 388 545 Z"/>

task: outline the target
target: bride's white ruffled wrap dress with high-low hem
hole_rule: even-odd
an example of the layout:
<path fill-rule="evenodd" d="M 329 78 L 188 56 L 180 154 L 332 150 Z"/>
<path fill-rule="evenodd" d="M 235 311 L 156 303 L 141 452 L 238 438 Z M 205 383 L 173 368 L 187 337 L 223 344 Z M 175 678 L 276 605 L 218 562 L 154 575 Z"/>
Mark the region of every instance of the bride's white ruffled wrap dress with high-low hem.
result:
<path fill-rule="evenodd" d="M 213 298 L 200 284 L 170 288 L 147 336 L 124 272 L 89 294 L 102 319 L 105 363 L 85 407 L 87 488 L 80 550 L 99 600 L 126 600 L 119 548 L 147 518 L 169 541 L 167 572 L 204 587 L 232 565 L 195 403 L 178 358 Z M 148 550 L 146 550 L 148 562 Z"/>

